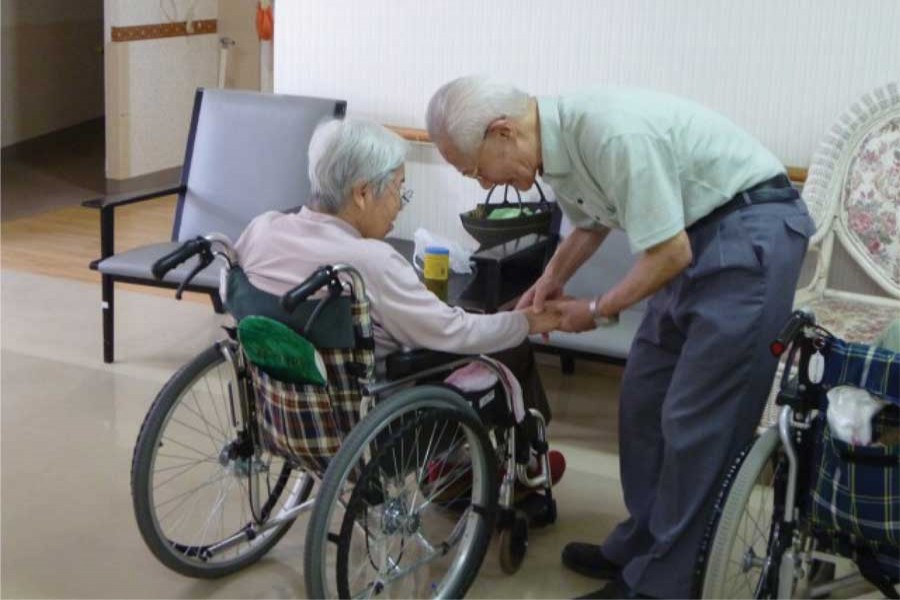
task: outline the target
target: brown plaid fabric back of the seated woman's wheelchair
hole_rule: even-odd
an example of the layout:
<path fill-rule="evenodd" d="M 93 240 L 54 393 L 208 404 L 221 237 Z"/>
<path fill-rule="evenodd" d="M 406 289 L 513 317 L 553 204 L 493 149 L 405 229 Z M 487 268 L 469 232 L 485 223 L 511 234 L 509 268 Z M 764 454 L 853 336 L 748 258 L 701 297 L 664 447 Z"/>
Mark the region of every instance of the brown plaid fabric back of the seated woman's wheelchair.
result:
<path fill-rule="evenodd" d="M 367 300 L 351 303 L 353 348 L 320 350 L 324 386 L 278 381 L 250 365 L 262 439 L 266 448 L 302 467 L 323 473 L 344 437 L 359 422 L 364 385 L 375 371 L 375 345 Z"/>

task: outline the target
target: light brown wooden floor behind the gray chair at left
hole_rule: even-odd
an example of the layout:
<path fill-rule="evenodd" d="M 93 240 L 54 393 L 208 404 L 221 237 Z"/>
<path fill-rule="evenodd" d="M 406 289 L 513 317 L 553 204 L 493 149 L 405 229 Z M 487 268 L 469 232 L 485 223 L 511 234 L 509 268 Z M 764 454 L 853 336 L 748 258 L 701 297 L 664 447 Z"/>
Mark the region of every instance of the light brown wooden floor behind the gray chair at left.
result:
<path fill-rule="evenodd" d="M 176 197 L 166 196 L 116 209 L 116 252 L 162 242 L 172 235 Z M 100 285 L 88 264 L 100 256 L 100 212 L 73 207 L 0 223 L 0 268 L 75 279 Z M 118 284 L 122 289 L 174 296 L 168 289 Z M 202 294 L 186 299 L 209 302 Z"/>

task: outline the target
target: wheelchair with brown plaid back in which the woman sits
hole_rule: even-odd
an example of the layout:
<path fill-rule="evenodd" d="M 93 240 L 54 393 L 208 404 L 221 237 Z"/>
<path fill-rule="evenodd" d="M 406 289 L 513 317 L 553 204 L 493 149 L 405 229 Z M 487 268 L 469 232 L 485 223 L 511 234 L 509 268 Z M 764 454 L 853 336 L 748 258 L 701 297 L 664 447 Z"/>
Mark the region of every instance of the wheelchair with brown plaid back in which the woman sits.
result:
<path fill-rule="evenodd" d="M 158 560 L 190 577 L 225 576 L 309 513 L 311 598 L 462 597 L 495 530 L 503 571 L 521 566 L 529 523 L 553 523 L 556 503 L 543 417 L 530 411 L 537 433 L 523 434 L 502 369 L 488 357 L 413 351 L 387 357 L 376 374 L 365 283 L 351 266 L 322 267 L 279 298 L 250 284 L 230 241 L 211 234 L 160 259 L 153 274 L 192 257 L 176 297 L 221 258 L 236 325 L 172 376 L 138 435 L 133 506 Z M 302 333 L 326 384 L 278 381 L 254 365 L 238 333 L 249 316 Z M 496 373 L 493 388 L 444 383 L 473 362 Z M 530 513 L 515 502 L 517 481 L 539 490 Z"/>

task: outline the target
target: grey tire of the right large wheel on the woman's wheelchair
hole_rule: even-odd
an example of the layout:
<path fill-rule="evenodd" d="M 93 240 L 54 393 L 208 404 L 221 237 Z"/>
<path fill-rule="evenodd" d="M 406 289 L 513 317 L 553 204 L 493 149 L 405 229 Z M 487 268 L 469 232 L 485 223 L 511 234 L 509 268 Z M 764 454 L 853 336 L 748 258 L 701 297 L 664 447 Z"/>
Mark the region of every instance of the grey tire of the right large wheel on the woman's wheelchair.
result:
<path fill-rule="evenodd" d="M 373 467 L 374 469 L 383 470 L 378 465 L 383 464 L 385 449 L 393 448 L 391 450 L 393 453 L 396 452 L 396 446 L 384 443 L 381 450 L 372 453 L 373 458 L 369 463 L 361 469 L 358 465 L 361 464 L 363 454 L 370 443 L 374 443 L 378 448 L 378 444 L 381 444 L 389 433 L 403 438 L 406 430 L 403 429 L 402 423 L 410 418 L 412 418 L 413 424 L 418 423 L 419 421 L 415 417 L 417 414 L 434 414 L 436 415 L 432 419 L 434 422 L 449 423 L 455 420 L 457 424 L 465 427 L 467 450 L 472 458 L 473 474 L 469 488 L 471 503 L 477 502 L 484 509 L 472 511 L 468 515 L 466 531 L 461 536 L 465 548 L 459 550 L 458 556 L 448 567 L 448 573 L 451 574 L 449 578 L 442 579 L 439 583 L 433 583 L 429 595 L 461 598 L 472 585 L 484 560 L 493 529 L 492 515 L 496 509 L 498 488 L 496 459 L 481 421 L 465 399 L 445 387 L 419 386 L 398 392 L 380 402 L 366 415 L 365 419 L 353 428 L 341 444 L 340 451 L 329 463 L 310 515 L 306 533 L 303 564 L 307 597 L 328 598 L 347 594 L 348 585 L 345 581 L 341 581 L 347 572 L 346 564 L 341 564 L 342 552 L 344 552 L 341 544 L 345 543 L 344 538 L 348 531 L 347 515 L 352 517 L 354 514 L 354 504 L 357 502 L 358 496 L 369 494 L 368 497 L 371 497 L 371 492 L 375 489 L 366 487 L 369 485 L 366 473 L 371 470 L 370 466 L 376 465 Z M 437 417 L 440 418 L 440 421 L 437 420 Z M 424 420 L 429 422 L 427 419 Z M 428 458 L 427 452 L 424 458 Z M 403 461 L 400 461 L 400 464 L 404 464 Z M 403 470 L 405 468 L 404 466 Z M 354 475 L 355 471 L 362 471 L 363 474 L 358 476 L 356 486 L 350 492 L 350 500 L 346 503 L 340 534 L 332 533 L 330 527 L 334 517 L 334 508 L 341 503 L 341 491 L 349 488 L 350 480 L 357 476 Z M 384 504 L 386 503 L 382 498 L 382 505 Z M 435 506 L 439 506 L 439 503 L 435 503 Z M 418 518 L 418 515 L 414 518 Z M 470 524 L 472 524 L 471 528 Z M 329 543 L 338 545 L 338 560 L 334 576 L 328 573 L 329 560 L 326 554 Z M 366 547 L 368 547 L 368 543 L 368 537 L 366 537 Z M 344 562 L 346 563 L 346 560 Z M 329 590 L 330 582 L 335 580 L 337 590 Z M 378 590 L 379 595 L 381 591 L 381 589 Z"/>

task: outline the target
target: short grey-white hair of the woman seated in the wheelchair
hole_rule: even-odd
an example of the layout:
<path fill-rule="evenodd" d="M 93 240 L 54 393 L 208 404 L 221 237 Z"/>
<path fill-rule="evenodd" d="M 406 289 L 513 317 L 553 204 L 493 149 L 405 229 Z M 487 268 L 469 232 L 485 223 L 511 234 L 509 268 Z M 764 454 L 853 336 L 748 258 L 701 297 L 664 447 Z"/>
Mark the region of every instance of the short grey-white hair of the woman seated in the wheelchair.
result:
<path fill-rule="evenodd" d="M 309 142 L 312 206 L 339 213 L 360 184 L 381 196 L 408 150 L 403 138 L 377 123 L 347 118 L 320 124 Z"/>

